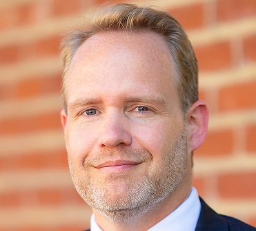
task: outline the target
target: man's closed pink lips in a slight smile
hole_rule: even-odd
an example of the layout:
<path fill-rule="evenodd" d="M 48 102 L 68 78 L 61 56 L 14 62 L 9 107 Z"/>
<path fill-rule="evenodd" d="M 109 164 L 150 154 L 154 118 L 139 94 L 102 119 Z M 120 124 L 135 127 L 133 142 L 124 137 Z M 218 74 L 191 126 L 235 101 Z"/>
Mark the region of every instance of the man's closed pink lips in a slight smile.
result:
<path fill-rule="evenodd" d="M 128 170 L 130 168 L 134 168 L 138 164 L 141 164 L 141 162 L 134 162 L 130 160 L 119 159 L 115 161 L 104 162 L 102 164 L 95 166 L 95 168 L 102 170 L 104 172 L 111 173 L 111 172 L 121 172 L 124 170 Z"/>

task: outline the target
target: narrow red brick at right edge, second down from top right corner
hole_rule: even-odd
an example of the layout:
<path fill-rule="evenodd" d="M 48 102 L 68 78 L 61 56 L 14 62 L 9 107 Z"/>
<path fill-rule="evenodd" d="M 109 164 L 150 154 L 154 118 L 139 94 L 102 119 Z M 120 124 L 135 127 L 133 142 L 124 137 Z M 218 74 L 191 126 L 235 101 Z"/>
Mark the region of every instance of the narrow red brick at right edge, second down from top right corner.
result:
<path fill-rule="evenodd" d="M 244 58 L 248 61 L 256 61 L 256 34 L 244 39 Z"/>

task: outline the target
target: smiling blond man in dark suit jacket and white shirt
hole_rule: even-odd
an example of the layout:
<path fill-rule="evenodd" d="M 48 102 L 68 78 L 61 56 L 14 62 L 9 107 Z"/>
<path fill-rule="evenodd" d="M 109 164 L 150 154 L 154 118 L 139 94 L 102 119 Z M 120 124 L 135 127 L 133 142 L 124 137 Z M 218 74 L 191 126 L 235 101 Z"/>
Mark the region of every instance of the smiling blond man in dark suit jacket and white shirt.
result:
<path fill-rule="evenodd" d="M 61 121 L 91 230 L 255 230 L 211 210 L 192 187 L 206 102 L 181 25 L 130 4 L 101 9 L 62 45 Z"/>

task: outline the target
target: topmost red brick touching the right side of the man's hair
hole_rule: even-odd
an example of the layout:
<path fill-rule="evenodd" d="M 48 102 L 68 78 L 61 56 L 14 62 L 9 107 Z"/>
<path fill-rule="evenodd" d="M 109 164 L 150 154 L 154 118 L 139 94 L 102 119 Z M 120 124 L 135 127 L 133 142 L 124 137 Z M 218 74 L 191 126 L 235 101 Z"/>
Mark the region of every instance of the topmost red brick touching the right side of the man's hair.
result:
<path fill-rule="evenodd" d="M 168 12 L 183 25 L 185 30 L 201 28 L 204 25 L 203 3 L 169 9 Z"/>

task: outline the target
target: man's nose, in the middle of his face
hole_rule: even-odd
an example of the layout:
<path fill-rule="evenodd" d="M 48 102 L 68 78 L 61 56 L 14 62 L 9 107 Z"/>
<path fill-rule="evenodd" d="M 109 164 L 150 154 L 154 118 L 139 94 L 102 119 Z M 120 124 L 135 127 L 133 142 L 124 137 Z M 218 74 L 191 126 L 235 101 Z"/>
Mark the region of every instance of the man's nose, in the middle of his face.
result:
<path fill-rule="evenodd" d="M 99 146 L 115 147 L 118 145 L 130 145 L 132 137 L 129 133 L 128 125 L 128 119 L 123 112 L 118 109 L 106 111 L 99 127 Z"/>

